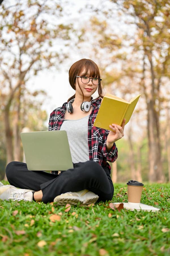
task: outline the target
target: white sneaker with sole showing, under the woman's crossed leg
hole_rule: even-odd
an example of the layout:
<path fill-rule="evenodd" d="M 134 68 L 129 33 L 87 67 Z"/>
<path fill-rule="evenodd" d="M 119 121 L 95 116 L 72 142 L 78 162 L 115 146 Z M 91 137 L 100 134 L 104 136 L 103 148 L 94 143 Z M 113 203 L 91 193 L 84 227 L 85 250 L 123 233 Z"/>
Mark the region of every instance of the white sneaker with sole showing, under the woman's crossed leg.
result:
<path fill-rule="evenodd" d="M 77 203 L 88 205 L 91 203 L 96 203 L 97 199 L 98 195 L 84 189 L 78 192 L 67 192 L 58 195 L 54 198 L 54 202 L 56 202 L 58 205 L 66 205 L 67 203 L 70 205 L 77 205 Z"/>

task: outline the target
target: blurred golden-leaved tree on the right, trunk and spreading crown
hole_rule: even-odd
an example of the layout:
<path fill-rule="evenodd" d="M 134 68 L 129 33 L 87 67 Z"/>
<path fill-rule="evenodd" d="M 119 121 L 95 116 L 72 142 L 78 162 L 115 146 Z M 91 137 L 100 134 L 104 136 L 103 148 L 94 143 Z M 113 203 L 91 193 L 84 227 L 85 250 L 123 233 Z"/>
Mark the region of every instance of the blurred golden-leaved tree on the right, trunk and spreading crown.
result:
<path fill-rule="evenodd" d="M 166 77 L 169 84 L 170 78 L 170 5 L 164 0 L 111 2 L 112 6 L 91 7 L 96 15 L 100 15 L 100 18 L 92 19 L 91 25 L 96 42 L 93 44 L 94 55 L 101 60 L 102 66 L 105 65 L 102 82 L 110 86 L 111 93 L 121 93 L 121 97 L 126 94 L 127 98 L 129 93 L 142 92 L 145 98 L 143 109 L 146 107 L 147 110 L 149 180 L 164 181 L 159 125 L 162 102 L 168 92 L 161 95 L 163 80 Z M 124 24 L 128 25 L 119 35 L 113 32 L 112 26 L 116 6 L 120 21 L 125 20 Z M 132 32 L 134 25 L 136 29 Z M 88 32 L 90 28 L 84 30 Z M 86 37 L 82 34 L 81 40 Z"/>

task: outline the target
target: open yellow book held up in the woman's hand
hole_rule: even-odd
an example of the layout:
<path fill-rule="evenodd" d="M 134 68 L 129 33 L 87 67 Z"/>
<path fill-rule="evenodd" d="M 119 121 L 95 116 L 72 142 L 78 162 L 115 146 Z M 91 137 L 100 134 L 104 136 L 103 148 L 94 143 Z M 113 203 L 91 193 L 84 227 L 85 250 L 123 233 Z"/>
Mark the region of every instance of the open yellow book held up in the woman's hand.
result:
<path fill-rule="evenodd" d="M 94 126 L 110 130 L 109 125 L 114 123 L 121 126 L 123 119 L 126 119 L 125 124 L 127 124 L 131 118 L 139 97 L 140 94 L 128 102 L 122 98 L 107 93 L 104 96 L 98 110 Z"/>

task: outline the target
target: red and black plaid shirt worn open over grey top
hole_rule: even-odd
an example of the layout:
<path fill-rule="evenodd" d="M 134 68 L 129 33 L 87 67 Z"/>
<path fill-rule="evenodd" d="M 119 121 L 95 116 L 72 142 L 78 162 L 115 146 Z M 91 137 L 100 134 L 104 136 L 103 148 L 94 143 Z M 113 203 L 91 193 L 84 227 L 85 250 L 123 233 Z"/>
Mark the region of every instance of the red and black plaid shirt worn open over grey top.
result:
<path fill-rule="evenodd" d="M 117 159 L 117 147 L 114 143 L 112 149 L 108 153 L 106 150 L 106 139 L 109 130 L 101 129 L 93 126 L 96 119 L 99 107 L 101 105 L 101 99 L 92 100 L 93 110 L 89 115 L 88 121 L 88 145 L 89 145 L 89 160 L 95 161 L 101 166 L 107 166 L 111 172 L 111 167 L 108 162 L 114 162 Z M 65 102 L 62 107 L 56 108 L 51 114 L 49 119 L 49 131 L 60 130 L 60 127 L 64 121 L 64 115 L 66 112 Z M 107 162 L 108 161 L 108 162 Z"/>

